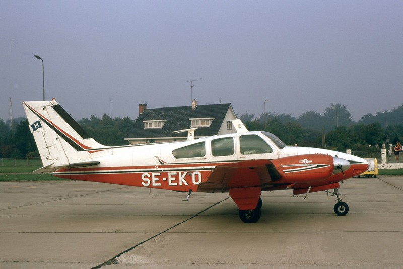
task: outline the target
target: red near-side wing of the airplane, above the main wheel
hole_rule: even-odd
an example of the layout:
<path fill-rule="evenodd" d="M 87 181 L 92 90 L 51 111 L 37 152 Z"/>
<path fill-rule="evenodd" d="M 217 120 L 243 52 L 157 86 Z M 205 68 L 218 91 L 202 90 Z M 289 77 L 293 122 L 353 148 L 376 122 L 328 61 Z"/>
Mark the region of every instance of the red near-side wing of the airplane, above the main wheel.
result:
<path fill-rule="evenodd" d="M 201 182 L 198 192 L 227 192 L 234 188 L 262 187 L 272 184 L 283 176 L 270 160 L 244 160 L 216 166 L 205 182 Z"/>

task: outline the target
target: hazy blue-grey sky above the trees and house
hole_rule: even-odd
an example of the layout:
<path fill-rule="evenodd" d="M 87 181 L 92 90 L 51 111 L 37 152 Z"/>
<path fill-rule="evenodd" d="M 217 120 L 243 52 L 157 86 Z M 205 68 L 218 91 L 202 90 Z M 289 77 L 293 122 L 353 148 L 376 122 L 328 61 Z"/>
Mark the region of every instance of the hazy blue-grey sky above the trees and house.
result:
<path fill-rule="evenodd" d="M 403 104 L 403 1 L 0 0 L 0 118 L 55 97 L 75 119 L 231 103 L 354 120 Z"/>

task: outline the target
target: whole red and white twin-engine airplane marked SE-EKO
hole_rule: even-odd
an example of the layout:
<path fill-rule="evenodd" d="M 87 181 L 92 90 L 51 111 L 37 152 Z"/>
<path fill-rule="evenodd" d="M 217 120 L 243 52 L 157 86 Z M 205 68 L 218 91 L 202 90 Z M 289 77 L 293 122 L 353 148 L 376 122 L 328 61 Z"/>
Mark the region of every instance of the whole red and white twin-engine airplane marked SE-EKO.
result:
<path fill-rule="evenodd" d="M 275 135 L 248 131 L 233 120 L 236 132 L 188 140 L 142 145 L 105 146 L 89 137 L 60 106 L 51 101 L 25 101 L 24 110 L 43 167 L 71 180 L 156 189 L 228 192 L 245 223 L 260 219 L 262 191 L 292 190 L 293 195 L 325 191 L 337 197 L 337 215 L 349 211 L 339 182 L 368 169 L 363 158 L 326 149 L 287 146 Z"/>

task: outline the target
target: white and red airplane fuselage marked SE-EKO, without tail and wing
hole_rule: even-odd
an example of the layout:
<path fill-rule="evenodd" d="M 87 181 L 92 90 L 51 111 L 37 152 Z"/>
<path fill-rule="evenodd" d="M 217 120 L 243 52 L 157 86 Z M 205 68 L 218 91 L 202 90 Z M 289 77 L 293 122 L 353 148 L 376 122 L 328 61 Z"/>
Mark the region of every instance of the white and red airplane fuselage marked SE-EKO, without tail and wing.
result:
<path fill-rule="evenodd" d="M 254 146 L 256 141 L 259 141 L 258 146 Z M 213 136 L 185 142 L 91 148 L 89 150 L 93 152 L 92 160 L 99 161 L 99 165 L 85 168 L 62 168 L 52 174 L 66 179 L 186 192 L 190 189 L 197 191 L 198 185 L 206 181 L 216 166 L 241 160 L 265 159 L 272 160 L 278 169 L 285 171 L 287 176 L 277 181 L 276 184 L 262 188 L 262 190 L 273 190 L 307 188 L 340 182 L 361 174 L 367 166 L 365 160 L 353 155 L 325 149 L 286 146 L 273 134 L 259 131 Z M 291 159 L 287 160 L 286 157 L 306 154 L 321 154 L 346 159 L 350 162 L 351 167 L 343 171 L 344 173 L 332 173 L 329 177 L 320 180 L 315 179 L 311 170 L 309 170 L 309 174 L 303 174 L 304 171 L 297 173 L 285 169 L 286 163 L 291 162 Z M 276 160 L 279 158 L 282 158 L 282 162 L 276 164 Z M 293 164 L 290 163 L 290 165 Z M 301 181 L 301 177 L 306 179 Z M 295 184 L 290 187 L 292 183 Z"/>

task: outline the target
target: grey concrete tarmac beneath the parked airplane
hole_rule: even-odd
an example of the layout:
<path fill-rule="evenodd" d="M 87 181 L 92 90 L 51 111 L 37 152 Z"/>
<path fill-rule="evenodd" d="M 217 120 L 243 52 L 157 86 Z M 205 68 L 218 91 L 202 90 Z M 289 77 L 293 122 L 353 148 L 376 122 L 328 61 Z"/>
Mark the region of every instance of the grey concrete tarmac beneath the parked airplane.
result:
<path fill-rule="evenodd" d="M 245 224 L 227 193 L 81 181 L 0 183 L 1 268 L 401 268 L 403 176 L 318 192 L 262 193 Z"/>

